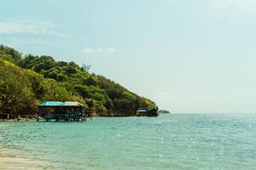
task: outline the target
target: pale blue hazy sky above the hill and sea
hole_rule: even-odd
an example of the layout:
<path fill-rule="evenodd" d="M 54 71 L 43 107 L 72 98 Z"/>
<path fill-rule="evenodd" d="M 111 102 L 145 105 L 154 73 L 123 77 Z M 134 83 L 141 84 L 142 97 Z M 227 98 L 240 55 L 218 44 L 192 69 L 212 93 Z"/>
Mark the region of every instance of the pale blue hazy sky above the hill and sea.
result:
<path fill-rule="evenodd" d="M 256 112 L 256 1 L 1 0 L 0 43 L 92 65 L 171 112 Z"/>

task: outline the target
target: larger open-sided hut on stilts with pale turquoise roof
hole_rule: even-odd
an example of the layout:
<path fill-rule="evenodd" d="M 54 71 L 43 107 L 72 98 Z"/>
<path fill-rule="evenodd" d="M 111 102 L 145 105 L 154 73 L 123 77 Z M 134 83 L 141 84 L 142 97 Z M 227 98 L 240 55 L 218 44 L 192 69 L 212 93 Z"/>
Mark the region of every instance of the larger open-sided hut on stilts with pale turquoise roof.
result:
<path fill-rule="evenodd" d="M 39 105 L 39 116 L 46 121 L 79 121 L 85 120 L 84 105 L 79 102 L 46 101 Z"/>

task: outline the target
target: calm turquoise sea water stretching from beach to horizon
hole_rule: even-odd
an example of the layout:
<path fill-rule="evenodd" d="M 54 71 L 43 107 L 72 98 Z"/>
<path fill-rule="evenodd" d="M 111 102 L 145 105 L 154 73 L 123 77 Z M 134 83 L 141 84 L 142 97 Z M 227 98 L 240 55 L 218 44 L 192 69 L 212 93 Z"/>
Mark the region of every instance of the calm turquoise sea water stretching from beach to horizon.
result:
<path fill-rule="evenodd" d="M 0 147 L 44 169 L 256 169 L 256 115 L 1 122 Z"/>

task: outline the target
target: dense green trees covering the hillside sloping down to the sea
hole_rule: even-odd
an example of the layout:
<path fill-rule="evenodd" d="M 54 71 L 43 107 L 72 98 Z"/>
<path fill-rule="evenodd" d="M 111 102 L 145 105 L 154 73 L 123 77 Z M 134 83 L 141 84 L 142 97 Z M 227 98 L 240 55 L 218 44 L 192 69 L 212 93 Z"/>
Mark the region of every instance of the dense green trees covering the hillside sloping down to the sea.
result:
<path fill-rule="evenodd" d="M 55 61 L 50 56 L 23 56 L 0 46 L 0 111 L 20 115 L 38 112 L 42 101 L 79 101 L 100 116 L 135 114 L 156 107 L 118 83 L 88 72 L 88 66 Z"/>

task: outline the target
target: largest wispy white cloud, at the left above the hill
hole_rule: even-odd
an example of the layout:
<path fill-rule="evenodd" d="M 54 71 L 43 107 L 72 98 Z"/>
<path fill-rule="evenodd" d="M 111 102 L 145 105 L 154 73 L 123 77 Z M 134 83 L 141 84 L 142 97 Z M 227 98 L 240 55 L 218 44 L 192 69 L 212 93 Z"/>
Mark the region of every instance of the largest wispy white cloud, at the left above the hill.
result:
<path fill-rule="evenodd" d="M 0 34 L 40 34 L 68 37 L 55 31 L 55 25 L 45 20 L 3 20 L 0 21 Z"/>

